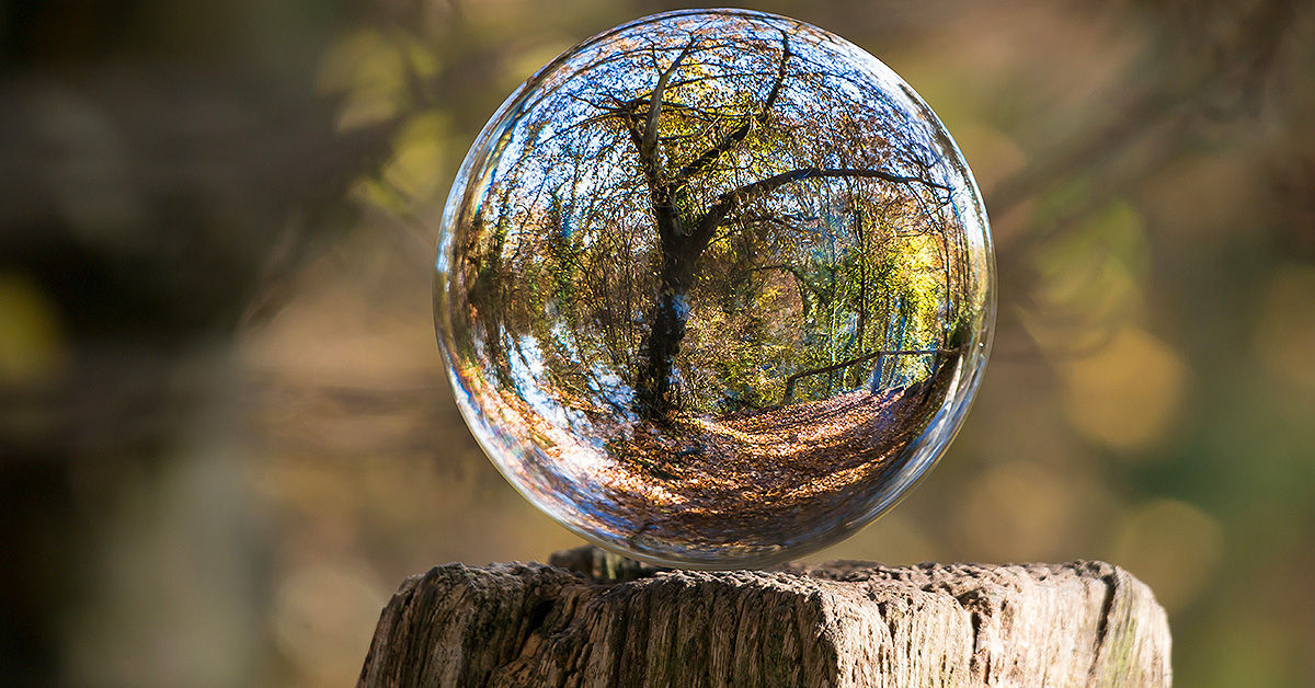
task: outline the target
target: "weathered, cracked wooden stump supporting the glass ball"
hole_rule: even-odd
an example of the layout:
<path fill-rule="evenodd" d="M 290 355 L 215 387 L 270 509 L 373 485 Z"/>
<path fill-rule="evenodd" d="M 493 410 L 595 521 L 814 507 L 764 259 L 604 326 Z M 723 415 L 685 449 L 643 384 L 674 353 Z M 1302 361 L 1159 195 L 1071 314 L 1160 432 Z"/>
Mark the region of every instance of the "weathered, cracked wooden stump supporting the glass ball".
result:
<path fill-rule="evenodd" d="M 1102 562 L 679 571 L 594 547 L 402 583 L 358 688 L 1168 687 L 1169 624 Z"/>

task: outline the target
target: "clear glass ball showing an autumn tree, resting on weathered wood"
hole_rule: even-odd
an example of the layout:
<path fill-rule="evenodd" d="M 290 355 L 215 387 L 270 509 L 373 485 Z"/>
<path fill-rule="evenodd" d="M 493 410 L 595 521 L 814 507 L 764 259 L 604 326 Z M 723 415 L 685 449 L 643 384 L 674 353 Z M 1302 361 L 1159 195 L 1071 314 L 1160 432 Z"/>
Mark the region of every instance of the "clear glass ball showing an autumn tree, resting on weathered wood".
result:
<path fill-rule="evenodd" d="M 692 568 L 839 542 L 945 451 L 994 324 L 972 172 L 889 67 L 756 12 L 567 50 L 479 134 L 435 325 L 506 479 L 608 550 Z"/>

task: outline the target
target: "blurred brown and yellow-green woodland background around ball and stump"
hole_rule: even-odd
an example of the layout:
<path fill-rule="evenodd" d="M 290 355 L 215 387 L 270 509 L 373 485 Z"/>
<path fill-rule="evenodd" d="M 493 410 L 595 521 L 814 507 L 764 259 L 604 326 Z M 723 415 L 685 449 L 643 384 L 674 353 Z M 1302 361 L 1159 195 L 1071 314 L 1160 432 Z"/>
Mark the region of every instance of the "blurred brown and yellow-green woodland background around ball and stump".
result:
<path fill-rule="evenodd" d="M 579 541 L 434 343 L 456 166 L 650 0 L 0 1 L 0 684 L 354 683 L 434 564 Z M 1107 559 L 1184 687 L 1315 684 L 1315 11 L 764 0 L 977 174 L 995 349 L 949 454 L 811 559 Z"/>

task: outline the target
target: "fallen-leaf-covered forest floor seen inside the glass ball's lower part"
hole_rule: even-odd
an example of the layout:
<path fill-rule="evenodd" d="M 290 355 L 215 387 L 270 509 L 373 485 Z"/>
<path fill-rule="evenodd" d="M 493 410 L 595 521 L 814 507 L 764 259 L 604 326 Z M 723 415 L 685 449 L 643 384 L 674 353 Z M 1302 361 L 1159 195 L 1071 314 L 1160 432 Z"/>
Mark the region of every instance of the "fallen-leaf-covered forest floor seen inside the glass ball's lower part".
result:
<path fill-rule="evenodd" d="M 907 388 L 668 424 L 590 409 L 564 428 L 513 391 L 476 395 L 521 460 L 504 466 L 550 510 L 655 556 L 768 554 L 855 522 L 901 475 L 957 360 Z M 606 447 L 606 449 L 604 449 Z"/>

